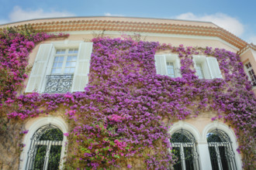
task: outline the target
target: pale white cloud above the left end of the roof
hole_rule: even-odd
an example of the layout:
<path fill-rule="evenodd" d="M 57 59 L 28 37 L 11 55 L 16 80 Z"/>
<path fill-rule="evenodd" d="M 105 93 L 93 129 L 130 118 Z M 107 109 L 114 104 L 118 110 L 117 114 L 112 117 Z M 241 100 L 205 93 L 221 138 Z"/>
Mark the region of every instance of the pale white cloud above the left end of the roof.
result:
<path fill-rule="evenodd" d="M 12 12 L 9 14 L 8 22 L 17 22 L 27 19 L 42 19 L 42 18 L 54 18 L 54 17 L 66 17 L 66 16 L 74 16 L 71 12 L 56 12 L 50 11 L 45 12 L 42 8 L 38 8 L 36 10 L 25 10 L 20 8 L 19 6 L 15 6 L 12 9 Z"/>

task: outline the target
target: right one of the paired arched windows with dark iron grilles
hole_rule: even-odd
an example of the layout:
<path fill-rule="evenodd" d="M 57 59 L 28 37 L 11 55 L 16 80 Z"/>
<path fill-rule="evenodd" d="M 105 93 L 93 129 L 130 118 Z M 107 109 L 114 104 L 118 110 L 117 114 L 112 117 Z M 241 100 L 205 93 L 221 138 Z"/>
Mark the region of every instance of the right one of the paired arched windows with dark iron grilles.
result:
<path fill-rule="evenodd" d="M 224 131 L 216 129 L 210 131 L 206 138 L 213 170 L 237 169 L 229 136 Z"/>

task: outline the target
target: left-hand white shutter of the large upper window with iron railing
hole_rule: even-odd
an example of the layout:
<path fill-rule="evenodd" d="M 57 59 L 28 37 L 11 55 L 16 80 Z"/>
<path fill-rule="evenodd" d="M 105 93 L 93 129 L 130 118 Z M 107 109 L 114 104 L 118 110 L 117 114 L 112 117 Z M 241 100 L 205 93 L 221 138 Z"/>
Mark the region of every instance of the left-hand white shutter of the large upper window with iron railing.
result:
<path fill-rule="evenodd" d="M 50 58 L 50 52 L 53 49 L 52 44 L 42 44 L 38 50 L 36 61 L 29 76 L 29 82 L 26 85 L 26 93 L 36 91 L 41 92 L 43 78 L 47 69 L 47 61 Z"/>

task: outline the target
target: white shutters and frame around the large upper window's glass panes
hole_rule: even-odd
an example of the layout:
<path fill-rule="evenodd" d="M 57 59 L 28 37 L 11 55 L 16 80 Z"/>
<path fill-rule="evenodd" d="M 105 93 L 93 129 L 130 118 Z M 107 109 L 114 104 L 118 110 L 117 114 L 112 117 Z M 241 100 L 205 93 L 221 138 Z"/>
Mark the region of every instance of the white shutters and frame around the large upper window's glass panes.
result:
<path fill-rule="evenodd" d="M 36 62 L 34 63 L 29 76 L 29 81 L 25 90 L 26 93 L 32 93 L 33 91 L 36 91 L 37 93 L 44 93 L 47 84 L 46 76 L 52 75 L 51 70 L 57 49 L 78 49 L 78 57 L 76 60 L 70 92 L 84 91 L 85 85 L 88 83 L 88 73 L 92 55 L 92 42 L 66 40 L 40 45 L 36 55 Z"/>

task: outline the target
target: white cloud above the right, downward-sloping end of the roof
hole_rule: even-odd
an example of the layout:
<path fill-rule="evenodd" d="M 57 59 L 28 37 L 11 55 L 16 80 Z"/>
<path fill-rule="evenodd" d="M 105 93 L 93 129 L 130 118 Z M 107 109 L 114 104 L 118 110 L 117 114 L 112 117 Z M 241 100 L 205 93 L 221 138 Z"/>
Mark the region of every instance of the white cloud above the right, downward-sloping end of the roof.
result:
<path fill-rule="evenodd" d="M 223 13 L 216 13 L 213 15 L 194 15 L 192 12 L 187 12 L 175 17 L 176 19 L 187 19 L 195 21 L 213 22 L 217 26 L 226 29 L 236 36 L 242 36 L 244 33 L 244 25 L 236 18 Z"/>

